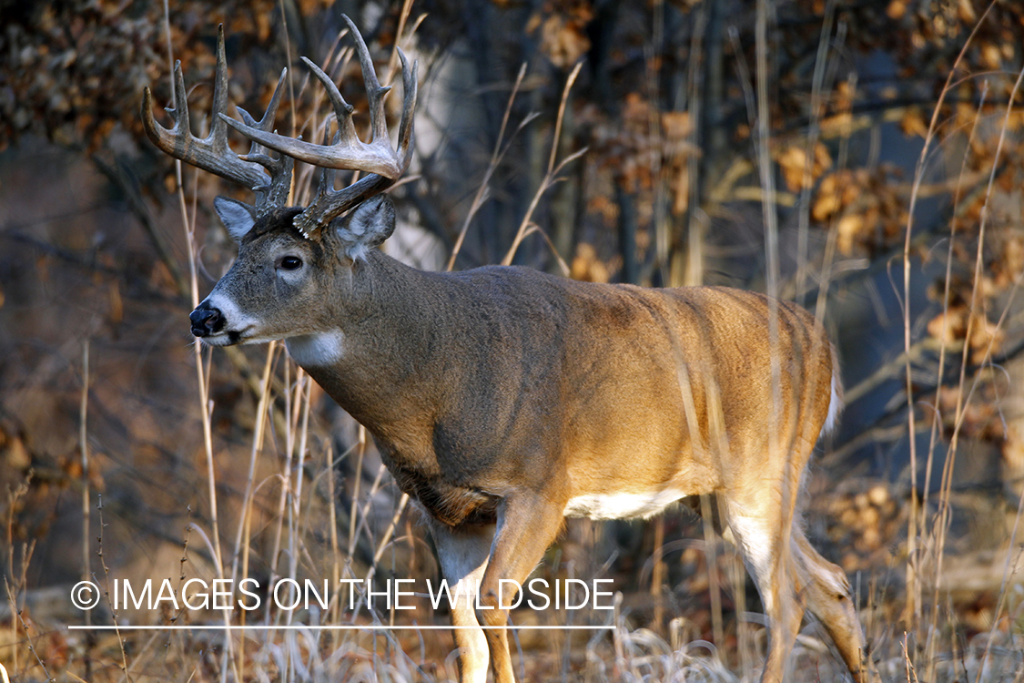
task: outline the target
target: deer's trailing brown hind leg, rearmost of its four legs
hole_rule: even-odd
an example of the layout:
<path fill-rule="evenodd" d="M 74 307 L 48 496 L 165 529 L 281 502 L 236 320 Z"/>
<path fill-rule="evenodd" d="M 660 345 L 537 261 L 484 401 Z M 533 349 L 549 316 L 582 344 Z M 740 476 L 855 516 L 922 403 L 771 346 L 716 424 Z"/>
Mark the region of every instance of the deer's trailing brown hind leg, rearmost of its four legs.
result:
<path fill-rule="evenodd" d="M 867 680 L 864 636 L 850 599 L 846 574 L 821 557 L 799 527 L 793 529 L 793 542 L 794 555 L 805 574 L 808 609 L 828 632 L 853 679 L 864 683 Z"/>

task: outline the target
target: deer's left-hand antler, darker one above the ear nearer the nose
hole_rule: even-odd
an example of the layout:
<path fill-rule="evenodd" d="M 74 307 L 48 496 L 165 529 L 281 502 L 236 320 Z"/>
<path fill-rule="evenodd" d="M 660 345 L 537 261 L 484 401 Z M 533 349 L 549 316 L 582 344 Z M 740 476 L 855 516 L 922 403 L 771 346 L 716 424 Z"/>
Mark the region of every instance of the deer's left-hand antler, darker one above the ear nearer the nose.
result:
<path fill-rule="evenodd" d="M 281 86 L 285 82 L 287 73 L 287 69 L 281 73 L 270 104 L 260 121 L 255 121 L 248 112 L 238 108 L 242 120 L 252 130 L 266 132 L 273 128 L 273 119 L 284 92 Z M 291 189 L 294 160 L 284 155 L 280 159 L 273 159 L 266 154 L 263 145 L 256 142 L 252 144 L 248 155 L 241 157 L 227 145 L 227 126 L 223 116 L 227 106 L 227 62 L 224 58 L 223 25 L 217 29 L 217 70 L 213 85 L 213 111 L 210 134 L 204 139 L 199 139 L 191 133 L 180 61 L 174 65 L 174 108 L 166 110 L 174 120 L 174 126 L 170 129 L 158 124 L 154 118 L 153 93 L 150 92 L 150 88 L 146 87 L 143 92 L 142 124 L 153 143 L 175 159 L 251 188 L 256 193 L 256 210 L 260 215 L 270 209 L 286 206 Z"/>

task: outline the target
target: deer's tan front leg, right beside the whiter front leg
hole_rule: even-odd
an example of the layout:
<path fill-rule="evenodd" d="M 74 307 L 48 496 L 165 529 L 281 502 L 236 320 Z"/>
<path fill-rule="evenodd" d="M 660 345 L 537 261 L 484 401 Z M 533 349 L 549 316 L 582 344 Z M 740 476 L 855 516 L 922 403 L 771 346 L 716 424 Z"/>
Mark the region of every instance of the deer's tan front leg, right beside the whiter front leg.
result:
<path fill-rule="evenodd" d="M 506 606 L 515 602 L 516 595 L 510 592 L 513 585 L 502 585 L 500 580 L 523 585 L 561 529 L 563 509 L 564 505 L 553 504 L 532 493 L 517 493 L 503 501 L 498 511 L 498 531 L 490 560 L 480 586 L 479 614 L 484 627 L 508 624 Z M 496 683 L 514 683 L 508 631 L 485 628 L 484 634 Z"/>

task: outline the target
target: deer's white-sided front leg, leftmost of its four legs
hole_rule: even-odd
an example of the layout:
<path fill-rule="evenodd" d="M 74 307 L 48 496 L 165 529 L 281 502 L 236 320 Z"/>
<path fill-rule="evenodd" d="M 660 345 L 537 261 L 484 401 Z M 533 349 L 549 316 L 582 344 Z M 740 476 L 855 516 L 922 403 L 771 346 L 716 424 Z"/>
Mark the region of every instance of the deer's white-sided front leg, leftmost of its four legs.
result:
<path fill-rule="evenodd" d="M 430 519 L 430 533 L 437 547 L 441 571 L 453 596 L 452 626 L 459 648 L 459 683 L 487 680 L 487 640 L 476 621 L 476 593 L 487 567 L 495 536 L 494 524 L 458 527 Z"/>

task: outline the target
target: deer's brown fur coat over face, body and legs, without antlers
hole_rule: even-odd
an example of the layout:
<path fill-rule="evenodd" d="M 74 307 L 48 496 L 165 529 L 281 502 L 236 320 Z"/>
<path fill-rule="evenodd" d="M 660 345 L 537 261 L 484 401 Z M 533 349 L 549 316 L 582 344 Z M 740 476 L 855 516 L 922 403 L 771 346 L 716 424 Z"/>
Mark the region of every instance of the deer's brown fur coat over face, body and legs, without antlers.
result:
<path fill-rule="evenodd" d="M 393 220 L 379 204 L 364 218 Z M 257 221 L 211 300 L 229 297 L 259 322 L 231 342 L 340 331 L 339 357 L 304 367 L 427 512 L 451 583 L 482 578 L 481 603 L 493 604 L 500 579 L 526 580 L 567 508 L 606 517 L 629 514 L 622 500 L 712 494 L 772 628 L 763 680 L 784 678 L 805 606 L 863 680 L 846 579 L 795 519 L 836 371 L 806 310 L 727 288 L 585 284 L 519 267 L 422 272 L 375 249 L 353 261 L 331 231 L 304 240 L 293 215 Z M 283 255 L 306 270 L 275 269 Z M 507 615 L 453 618 L 486 627 Z M 488 659 L 497 681 L 513 680 L 504 631 L 457 631 L 456 641 L 464 681 L 483 680 Z"/>

